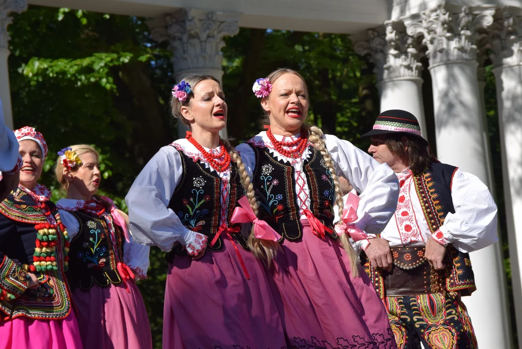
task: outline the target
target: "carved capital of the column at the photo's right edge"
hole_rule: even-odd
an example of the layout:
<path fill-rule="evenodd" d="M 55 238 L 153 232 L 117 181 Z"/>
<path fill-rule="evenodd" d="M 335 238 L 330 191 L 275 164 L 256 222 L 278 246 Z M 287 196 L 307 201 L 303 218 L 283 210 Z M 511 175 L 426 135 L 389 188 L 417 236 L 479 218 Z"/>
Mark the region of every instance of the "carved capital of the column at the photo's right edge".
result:
<path fill-rule="evenodd" d="M 495 66 L 522 64 L 522 16 L 509 7 L 501 8 L 491 31 L 491 60 Z"/>

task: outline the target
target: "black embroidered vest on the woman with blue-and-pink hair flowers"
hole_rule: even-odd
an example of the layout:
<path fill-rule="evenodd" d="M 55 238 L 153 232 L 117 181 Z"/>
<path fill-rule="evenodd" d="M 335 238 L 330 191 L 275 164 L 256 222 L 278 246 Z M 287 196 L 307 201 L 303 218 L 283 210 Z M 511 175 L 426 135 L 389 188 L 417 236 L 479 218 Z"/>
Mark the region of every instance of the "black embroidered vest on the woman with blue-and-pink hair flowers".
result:
<path fill-rule="evenodd" d="M 219 251 L 223 248 L 222 236 L 216 244 L 210 246 L 215 237 L 221 219 L 221 178 L 216 172 L 207 169 L 199 160 L 194 161 L 180 150 L 183 165 L 183 176 L 169 202 L 169 208 L 180 218 L 181 223 L 188 229 L 208 236 L 207 250 Z M 235 166 L 230 163 L 230 186 L 228 193 L 227 224 L 230 228 L 240 228 L 240 224 L 231 224 L 230 219 L 234 208 L 239 206 L 238 200 L 245 195 L 241 184 L 241 175 Z M 247 238 L 241 231 L 231 233 L 234 240 L 245 250 L 248 250 Z M 171 252 L 186 255 L 186 250 L 181 244 L 174 245 Z M 174 256 L 169 252 L 167 259 Z"/>

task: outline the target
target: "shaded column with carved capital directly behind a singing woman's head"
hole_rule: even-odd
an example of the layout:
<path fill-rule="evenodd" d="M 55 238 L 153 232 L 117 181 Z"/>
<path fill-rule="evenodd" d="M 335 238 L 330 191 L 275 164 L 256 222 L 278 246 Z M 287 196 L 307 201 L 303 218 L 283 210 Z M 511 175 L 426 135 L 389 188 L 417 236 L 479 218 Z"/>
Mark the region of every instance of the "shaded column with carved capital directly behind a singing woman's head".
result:
<path fill-rule="evenodd" d="M 186 73 L 211 75 L 221 81 L 223 38 L 239 32 L 239 18 L 236 13 L 180 9 L 150 21 L 149 26 L 154 40 L 169 41 L 176 82 Z M 181 126 L 178 124 L 178 136 L 183 138 L 186 128 Z M 226 139 L 227 128 L 219 134 Z"/>

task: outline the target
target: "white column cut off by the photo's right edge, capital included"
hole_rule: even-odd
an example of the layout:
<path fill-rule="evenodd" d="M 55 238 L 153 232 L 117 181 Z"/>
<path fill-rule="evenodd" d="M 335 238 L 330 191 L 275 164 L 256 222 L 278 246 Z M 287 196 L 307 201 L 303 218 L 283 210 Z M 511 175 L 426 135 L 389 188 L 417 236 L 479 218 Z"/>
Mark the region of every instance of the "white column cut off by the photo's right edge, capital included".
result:
<path fill-rule="evenodd" d="M 495 66 L 507 236 L 517 332 L 522 333 L 522 16 L 509 8 L 495 21 L 491 56 Z M 522 346 L 522 345 L 521 345 Z"/>

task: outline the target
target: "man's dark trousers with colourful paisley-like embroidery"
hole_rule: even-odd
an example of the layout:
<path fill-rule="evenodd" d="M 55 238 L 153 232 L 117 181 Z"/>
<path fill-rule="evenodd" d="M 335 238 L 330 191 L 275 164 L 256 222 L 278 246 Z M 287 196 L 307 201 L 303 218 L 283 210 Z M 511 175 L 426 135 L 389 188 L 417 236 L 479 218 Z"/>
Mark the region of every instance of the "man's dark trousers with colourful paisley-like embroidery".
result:
<path fill-rule="evenodd" d="M 477 339 L 458 292 L 388 296 L 388 320 L 399 349 L 476 349 Z"/>

